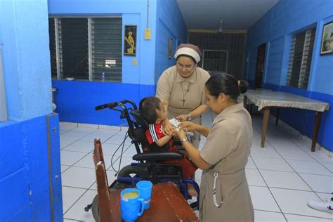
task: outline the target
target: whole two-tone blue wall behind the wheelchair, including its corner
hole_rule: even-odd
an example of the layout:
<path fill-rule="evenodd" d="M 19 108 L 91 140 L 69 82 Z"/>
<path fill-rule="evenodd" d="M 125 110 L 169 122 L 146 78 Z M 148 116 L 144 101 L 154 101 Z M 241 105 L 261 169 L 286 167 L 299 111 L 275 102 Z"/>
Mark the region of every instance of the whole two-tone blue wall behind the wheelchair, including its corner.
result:
<path fill-rule="evenodd" d="M 173 55 L 176 42 L 185 42 L 186 28 L 176 0 L 149 2 L 148 27 L 152 30 L 152 38 L 145 40 L 147 1 L 48 1 L 50 15 L 122 15 L 123 27 L 138 25 L 138 65 L 132 65 L 132 56 L 122 57 L 122 83 L 52 81 L 53 87 L 58 89 L 55 92 L 55 104 L 60 121 L 123 124 L 124 120 L 119 119 L 119 113 L 112 110 L 96 112 L 95 106 L 124 99 L 138 104 L 141 98 L 155 95 L 155 84 L 159 75 L 166 67 L 174 65 L 174 59 L 169 59 L 167 54 L 169 37 L 174 39 Z"/>

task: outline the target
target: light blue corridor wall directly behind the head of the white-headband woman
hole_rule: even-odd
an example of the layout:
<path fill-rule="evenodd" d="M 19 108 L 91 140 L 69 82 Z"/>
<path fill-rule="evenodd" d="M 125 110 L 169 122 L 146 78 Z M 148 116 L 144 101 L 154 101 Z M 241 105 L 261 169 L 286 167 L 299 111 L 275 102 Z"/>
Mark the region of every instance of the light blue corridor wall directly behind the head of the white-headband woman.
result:
<path fill-rule="evenodd" d="M 187 28 L 176 0 L 157 0 L 155 84 L 162 72 L 175 65 L 174 52 L 186 43 Z M 172 39 L 171 58 L 168 57 L 169 38 Z"/>

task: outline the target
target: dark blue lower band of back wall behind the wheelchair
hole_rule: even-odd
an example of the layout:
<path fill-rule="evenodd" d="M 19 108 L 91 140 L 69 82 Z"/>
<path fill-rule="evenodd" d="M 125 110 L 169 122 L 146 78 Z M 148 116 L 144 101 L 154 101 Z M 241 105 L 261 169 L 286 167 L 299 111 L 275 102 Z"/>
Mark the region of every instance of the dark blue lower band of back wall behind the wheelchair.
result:
<path fill-rule="evenodd" d="M 52 83 L 58 89 L 55 92 L 55 111 L 62 122 L 118 126 L 126 122 L 119 118 L 119 112 L 96 111 L 95 107 L 120 100 L 132 100 L 138 105 L 143 97 L 155 95 L 155 85 L 61 80 L 53 80 Z"/>

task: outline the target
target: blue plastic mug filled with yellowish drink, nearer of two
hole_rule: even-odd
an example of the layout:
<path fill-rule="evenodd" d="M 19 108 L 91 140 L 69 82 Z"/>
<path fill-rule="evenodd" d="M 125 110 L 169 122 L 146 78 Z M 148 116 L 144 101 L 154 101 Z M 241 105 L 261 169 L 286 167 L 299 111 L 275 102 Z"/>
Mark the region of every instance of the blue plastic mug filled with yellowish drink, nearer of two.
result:
<path fill-rule="evenodd" d="M 139 190 L 129 188 L 120 192 L 120 212 L 125 222 L 136 221 L 145 211 L 145 202 Z"/>

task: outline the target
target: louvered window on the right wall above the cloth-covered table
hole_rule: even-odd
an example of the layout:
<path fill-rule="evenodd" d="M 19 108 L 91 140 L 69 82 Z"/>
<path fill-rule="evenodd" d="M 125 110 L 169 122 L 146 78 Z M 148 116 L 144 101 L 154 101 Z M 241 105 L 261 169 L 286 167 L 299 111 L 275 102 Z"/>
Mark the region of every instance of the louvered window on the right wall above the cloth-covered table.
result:
<path fill-rule="evenodd" d="M 287 86 L 299 89 L 308 88 L 314 41 L 315 28 L 296 34 L 292 38 Z"/>

